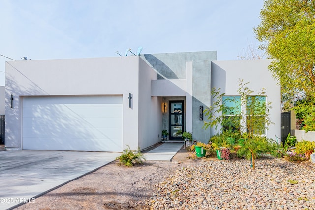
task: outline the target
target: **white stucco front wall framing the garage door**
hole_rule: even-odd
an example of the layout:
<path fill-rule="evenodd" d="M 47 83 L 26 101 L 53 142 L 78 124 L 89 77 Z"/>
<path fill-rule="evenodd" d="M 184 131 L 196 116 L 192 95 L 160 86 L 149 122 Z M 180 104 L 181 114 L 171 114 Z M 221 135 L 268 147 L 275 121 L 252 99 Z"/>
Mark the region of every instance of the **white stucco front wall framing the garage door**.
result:
<path fill-rule="evenodd" d="M 129 56 L 7 61 L 6 147 L 21 148 L 21 96 L 123 95 L 123 144 L 124 148 L 130 145 L 132 150 L 136 150 L 139 137 L 139 59 Z M 143 63 L 141 67 L 148 69 Z M 153 74 L 149 76 L 153 77 Z M 148 83 L 151 87 L 151 81 Z M 133 94 L 132 109 L 129 108 L 129 93 Z M 14 97 L 13 108 L 10 108 L 11 94 Z"/>

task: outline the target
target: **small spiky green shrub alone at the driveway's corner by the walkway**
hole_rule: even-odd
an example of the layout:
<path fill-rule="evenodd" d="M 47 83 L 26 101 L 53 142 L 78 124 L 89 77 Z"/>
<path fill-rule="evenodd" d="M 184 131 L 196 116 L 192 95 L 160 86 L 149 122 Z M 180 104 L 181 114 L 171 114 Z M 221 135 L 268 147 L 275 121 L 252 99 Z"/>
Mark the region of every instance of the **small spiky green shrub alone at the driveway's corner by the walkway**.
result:
<path fill-rule="evenodd" d="M 128 167 L 132 167 L 134 165 L 142 165 L 145 161 L 145 158 L 143 157 L 143 154 L 140 152 L 140 148 L 138 148 L 137 151 L 130 150 L 129 145 L 127 145 L 128 148 L 126 148 L 123 151 L 123 154 L 119 157 L 116 157 L 116 160 L 119 160 L 119 165 L 125 165 Z"/>

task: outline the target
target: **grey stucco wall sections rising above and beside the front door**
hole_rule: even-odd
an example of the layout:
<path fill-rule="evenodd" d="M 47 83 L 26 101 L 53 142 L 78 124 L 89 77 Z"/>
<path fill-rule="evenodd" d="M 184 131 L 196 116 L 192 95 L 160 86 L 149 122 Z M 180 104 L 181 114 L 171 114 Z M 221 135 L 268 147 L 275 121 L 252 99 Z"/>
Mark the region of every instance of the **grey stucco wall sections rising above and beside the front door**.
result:
<path fill-rule="evenodd" d="M 211 130 L 202 128 L 203 121 L 199 120 L 199 106 L 204 106 L 204 108 L 210 106 L 211 61 L 217 59 L 217 52 L 144 54 L 141 58 L 158 72 L 158 79 L 186 79 L 187 95 L 184 106 L 187 116 L 185 118 L 186 131 L 192 132 L 194 139 L 207 142 Z M 188 68 L 189 62 L 192 64 Z M 181 100 L 183 97 L 171 98 Z M 163 101 L 168 100 L 167 97 L 163 99 Z M 163 129 L 168 130 L 166 115 L 166 113 L 163 114 Z"/>

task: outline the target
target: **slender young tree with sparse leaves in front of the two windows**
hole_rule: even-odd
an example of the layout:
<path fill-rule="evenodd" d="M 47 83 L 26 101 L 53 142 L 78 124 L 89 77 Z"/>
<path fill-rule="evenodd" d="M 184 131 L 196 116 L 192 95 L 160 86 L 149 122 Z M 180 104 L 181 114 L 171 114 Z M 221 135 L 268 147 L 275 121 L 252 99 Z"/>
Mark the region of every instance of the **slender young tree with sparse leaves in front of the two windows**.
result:
<path fill-rule="evenodd" d="M 214 88 L 211 91 L 214 103 L 204 111 L 209 120 L 204 122 L 204 128 L 207 129 L 210 126 L 217 130 L 220 125 L 222 131 L 231 130 L 232 127 L 237 129 L 243 137 L 239 140 L 241 149 L 238 154 L 248 159 L 252 158 L 253 169 L 255 169 L 255 158 L 258 153 L 274 148 L 270 146 L 271 142 L 261 137 L 265 129 L 273 123 L 269 118 L 271 102 L 265 100 L 265 89 L 262 88 L 261 92 L 255 94 L 247 87 L 248 83 L 239 80 L 238 94 L 240 96 L 227 97 L 225 100 L 223 100 L 225 93 L 221 93 L 220 89 Z"/>

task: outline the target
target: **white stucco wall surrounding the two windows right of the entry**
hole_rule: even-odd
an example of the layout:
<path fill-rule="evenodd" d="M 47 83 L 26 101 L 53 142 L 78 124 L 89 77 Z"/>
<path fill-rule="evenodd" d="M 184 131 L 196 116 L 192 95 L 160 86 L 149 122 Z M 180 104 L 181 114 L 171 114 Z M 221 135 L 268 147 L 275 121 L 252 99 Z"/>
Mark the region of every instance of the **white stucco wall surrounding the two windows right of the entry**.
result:
<path fill-rule="evenodd" d="M 250 82 L 247 86 L 254 91 L 253 94 L 261 92 L 266 88 L 267 101 L 271 101 L 270 120 L 274 123 L 267 130 L 267 137 L 276 139 L 280 136 L 280 86 L 277 85 L 268 70 L 272 60 L 231 60 L 212 61 L 211 65 L 211 87 L 221 88 L 226 95 L 238 95 L 239 79 L 244 83 Z M 216 131 L 212 129 L 212 134 Z"/>

